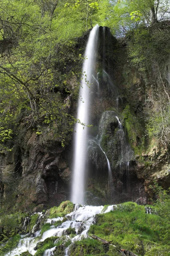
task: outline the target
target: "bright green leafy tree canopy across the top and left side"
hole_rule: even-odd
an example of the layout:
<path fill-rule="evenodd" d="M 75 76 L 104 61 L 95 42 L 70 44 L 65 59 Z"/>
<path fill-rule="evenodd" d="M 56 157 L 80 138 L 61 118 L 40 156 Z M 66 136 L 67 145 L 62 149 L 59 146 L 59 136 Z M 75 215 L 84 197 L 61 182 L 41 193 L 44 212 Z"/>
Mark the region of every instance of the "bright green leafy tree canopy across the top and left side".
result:
<path fill-rule="evenodd" d="M 77 96 L 66 67 L 82 61 L 75 45 L 87 29 L 98 23 L 120 37 L 169 17 L 168 0 L 0 0 L 1 146 L 17 133 L 23 112 L 27 128 L 35 122 L 40 134 L 42 123 L 51 125 L 64 142 L 77 120 L 61 91 Z"/>

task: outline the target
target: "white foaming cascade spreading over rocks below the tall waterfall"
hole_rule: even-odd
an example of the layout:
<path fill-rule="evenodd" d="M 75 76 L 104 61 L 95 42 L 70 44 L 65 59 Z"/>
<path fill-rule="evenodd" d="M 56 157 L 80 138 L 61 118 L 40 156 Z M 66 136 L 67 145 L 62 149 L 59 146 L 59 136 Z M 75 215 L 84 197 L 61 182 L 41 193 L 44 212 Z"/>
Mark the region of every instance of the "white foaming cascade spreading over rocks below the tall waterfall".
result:
<path fill-rule="evenodd" d="M 62 222 L 59 226 L 55 227 L 54 224 L 56 221 L 62 221 L 62 217 L 57 217 L 53 219 L 48 219 L 46 223 L 51 223 L 51 227 L 49 230 L 45 231 L 40 236 L 40 231 L 35 232 L 33 237 L 30 237 L 30 234 L 22 236 L 20 239 L 17 247 L 12 250 L 11 252 L 7 253 L 5 256 L 17 256 L 27 250 L 31 255 L 34 255 L 37 252 L 37 244 L 39 242 L 43 242 L 45 239 L 58 236 L 59 238 L 54 241 L 54 245 L 57 244 L 60 239 L 62 239 L 62 243 L 64 244 L 67 241 L 73 243 L 74 241 L 81 240 L 82 238 L 88 237 L 88 230 L 91 224 L 95 223 L 95 216 L 99 213 L 106 213 L 116 209 L 116 205 L 108 206 L 104 209 L 103 206 L 80 206 L 76 205 L 75 210 L 67 215 L 65 215 L 66 221 Z M 72 228 L 75 230 L 75 236 L 67 235 L 67 229 Z M 64 237 L 64 239 L 63 239 Z M 63 246 L 64 247 L 64 246 Z M 65 256 L 68 256 L 69 247 L 66 247 Z M 57 249 L 56 246 L 45 250 L 43 256 L 52 256 L 55 250 Z M 57 254 L 56 254 L 57 255 Z"/>

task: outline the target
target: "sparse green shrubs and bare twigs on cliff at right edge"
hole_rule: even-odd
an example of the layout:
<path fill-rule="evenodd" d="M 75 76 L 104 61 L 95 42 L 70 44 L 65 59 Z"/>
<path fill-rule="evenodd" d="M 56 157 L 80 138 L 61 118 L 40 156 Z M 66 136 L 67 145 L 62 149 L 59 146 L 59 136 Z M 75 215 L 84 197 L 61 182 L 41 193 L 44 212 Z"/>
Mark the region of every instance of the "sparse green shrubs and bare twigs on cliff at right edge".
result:
<path fill-rule="evenodd" d="M 133 67 L 145 78 L 146 95 L 143 104 L 145 136 L 150 144 L 168 148 L 170 143 L 170 92 L 164 76 L 164 63 L 170 54 L 170 25 L 167 22 L 147 29 L 140 27 L 129 34 L 128 52 Z"/>

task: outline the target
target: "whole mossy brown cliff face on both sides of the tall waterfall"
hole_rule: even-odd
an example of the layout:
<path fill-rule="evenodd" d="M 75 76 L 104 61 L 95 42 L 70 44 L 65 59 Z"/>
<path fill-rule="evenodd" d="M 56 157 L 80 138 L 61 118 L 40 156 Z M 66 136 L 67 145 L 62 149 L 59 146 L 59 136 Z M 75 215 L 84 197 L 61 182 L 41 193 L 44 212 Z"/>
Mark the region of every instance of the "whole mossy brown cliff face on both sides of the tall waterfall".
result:
<path fill-rule="evenodd" d="M 152 77 L 146 79 L 142 71 L 129 64 L 128 54 L 125 41 L 117 41 L 108 28 L 100 27 L 97 76 L 90 106 L 93 127 L 89 128 L 88 204 L 122 201 L 146 204 L 153 197 L 149 186 L 153 180 L 164 188 L 170 186 L 167 149 L 153 144 L 144 132 L 147 116 L 144 106 L 149 93 L 152 94 L 152 86 L 148 91 L 148 79 L 151 81 Z M 168 83 L 169 63 L 167 58 L 161 70 Z M 74 84 L 74 79 L 68 82 Z M 75 101 L 69 106 L 75 112 Z M 1 201 L 8 209 L 40 211 L 59 205 L 69 199 L 72 137 L 69 136 L 68 145 L 63 148 L 52 131 L 48 131 L 48 136 L 38 135 L 34 127 L 25 128 L 24 119 L 20 126 L 21 134 L 13 151 L 0 155 Z M 112 186 L 108 186 L 108 164 L 100 146 L 111 163 Z"/>

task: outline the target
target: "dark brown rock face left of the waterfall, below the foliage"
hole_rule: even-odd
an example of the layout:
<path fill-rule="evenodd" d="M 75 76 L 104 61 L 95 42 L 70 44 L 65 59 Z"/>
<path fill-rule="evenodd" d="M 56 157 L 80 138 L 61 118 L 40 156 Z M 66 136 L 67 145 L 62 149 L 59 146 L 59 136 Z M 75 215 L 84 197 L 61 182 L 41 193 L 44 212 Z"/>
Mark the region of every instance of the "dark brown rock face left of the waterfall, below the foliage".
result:
<path fill-rule="evenodd" d="M 23 148 L 1 156 L 3 186 L 1 196 L 8 208 L 42 210 L 68 197 L 70 171 L 67 148 L 55 139 L 42 143 L 34 131 L 27 131 Z M 68 157 L 68 154 L 67 154 Z"/>

